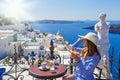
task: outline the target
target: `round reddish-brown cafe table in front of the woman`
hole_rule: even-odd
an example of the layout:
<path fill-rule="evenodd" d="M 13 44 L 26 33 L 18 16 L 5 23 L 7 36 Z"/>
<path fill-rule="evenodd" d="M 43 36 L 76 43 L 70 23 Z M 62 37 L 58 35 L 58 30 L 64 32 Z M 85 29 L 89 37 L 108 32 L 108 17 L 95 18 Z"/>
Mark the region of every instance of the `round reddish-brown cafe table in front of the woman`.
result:
<path fill-rule="evenodd" d="M 39 79 L 53 79 L 62 77 L 66 74 L 67 68 L 63 64 L 55 65 L 55 72 L 50 70 L 40 70 L 38 64 L 34 64 L 29 68 L 29 74 L 35 78 Z"/>

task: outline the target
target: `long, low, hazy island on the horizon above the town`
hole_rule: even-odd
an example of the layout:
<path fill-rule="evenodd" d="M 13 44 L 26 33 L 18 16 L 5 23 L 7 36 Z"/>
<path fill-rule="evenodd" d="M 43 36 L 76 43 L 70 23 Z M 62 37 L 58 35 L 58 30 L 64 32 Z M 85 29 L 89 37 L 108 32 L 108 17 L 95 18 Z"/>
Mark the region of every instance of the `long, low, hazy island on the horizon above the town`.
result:
<path fill-rule="evenodd" d="M 42 24 L 67 24 L 67 23 L 83 23 L 84 21 L 76 20 L 38 20 L 34 21 L 34 23 L 42 23 Z"/>

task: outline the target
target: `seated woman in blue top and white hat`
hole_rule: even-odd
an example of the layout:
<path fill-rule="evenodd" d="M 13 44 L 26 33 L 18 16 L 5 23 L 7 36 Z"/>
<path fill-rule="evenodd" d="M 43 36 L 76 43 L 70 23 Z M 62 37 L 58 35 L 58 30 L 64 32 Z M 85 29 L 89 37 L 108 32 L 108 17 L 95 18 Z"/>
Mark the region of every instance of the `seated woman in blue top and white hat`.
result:
<path fill-rule="evenodd" d="M 78 55 L 72 51 L 70 55 L 71 58 L 75 59 L 77 68 L 73 74 L 64 77 L 64 80 L 94 80 L 93 72 L 101 58 L 97 48 L 98 37 L 92 32 L 80 37 L 84 42 L 84 48 L 78 50 L 77 42 L 72 47 L 74 50 L 80 51 L 81 54 Z"/>

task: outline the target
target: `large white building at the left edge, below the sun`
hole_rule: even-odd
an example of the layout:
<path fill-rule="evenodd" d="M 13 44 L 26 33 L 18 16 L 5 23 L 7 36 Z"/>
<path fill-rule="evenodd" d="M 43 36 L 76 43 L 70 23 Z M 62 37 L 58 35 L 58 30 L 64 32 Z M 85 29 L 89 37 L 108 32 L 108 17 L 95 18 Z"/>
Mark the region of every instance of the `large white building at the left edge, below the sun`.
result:
<path fill-rule="evenodd" d="M 13 30 L 0 30 L 0 50 L 5 53 L 12 53 L 13 49 L 10 43 L 17 40 L 16 33 Z"/>

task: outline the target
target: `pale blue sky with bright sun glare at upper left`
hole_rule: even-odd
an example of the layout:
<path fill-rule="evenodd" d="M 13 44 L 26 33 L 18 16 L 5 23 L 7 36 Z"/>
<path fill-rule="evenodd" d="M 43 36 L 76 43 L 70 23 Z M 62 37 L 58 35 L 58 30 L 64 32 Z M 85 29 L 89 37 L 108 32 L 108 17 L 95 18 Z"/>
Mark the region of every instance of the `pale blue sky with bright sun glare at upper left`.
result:
<path fill-rule="evenodd" d="M 0 0 L 0 14 L 18 20 L 120 20 L 120 0 Z"/>

